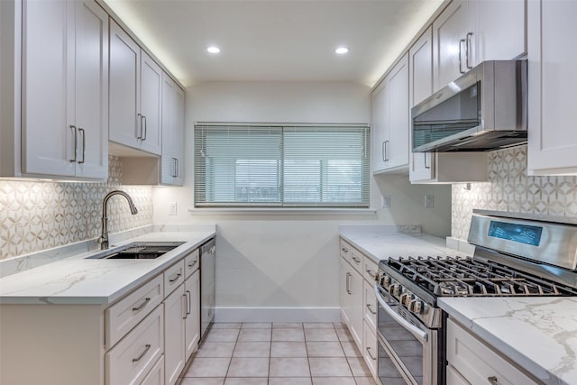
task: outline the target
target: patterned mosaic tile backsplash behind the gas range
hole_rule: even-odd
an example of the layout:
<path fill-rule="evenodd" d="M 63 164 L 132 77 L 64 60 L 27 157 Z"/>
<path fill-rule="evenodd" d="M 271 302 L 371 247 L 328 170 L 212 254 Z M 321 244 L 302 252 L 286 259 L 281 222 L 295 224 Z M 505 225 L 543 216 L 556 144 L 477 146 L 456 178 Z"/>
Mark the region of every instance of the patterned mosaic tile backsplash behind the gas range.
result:
<path fill-rule="evenodd" d="M 516 213 L 577 217 L 577 177 L 527 176 L 527 146 L 493 151 L 489 182 L 452 188 L 453 238 L 466 240 L 473 208 Z"/>

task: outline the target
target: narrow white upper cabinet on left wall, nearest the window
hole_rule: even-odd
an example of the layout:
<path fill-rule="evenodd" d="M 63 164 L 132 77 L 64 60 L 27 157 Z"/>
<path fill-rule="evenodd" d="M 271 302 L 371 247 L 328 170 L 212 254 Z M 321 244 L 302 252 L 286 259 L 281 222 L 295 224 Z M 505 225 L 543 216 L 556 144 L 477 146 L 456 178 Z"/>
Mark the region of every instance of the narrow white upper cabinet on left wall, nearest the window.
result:
<path fill-rule="evenodd" d="M 184 167 L 184 91 L 162 78 L 162 154 L 160 184 L 182 186 Z"/>

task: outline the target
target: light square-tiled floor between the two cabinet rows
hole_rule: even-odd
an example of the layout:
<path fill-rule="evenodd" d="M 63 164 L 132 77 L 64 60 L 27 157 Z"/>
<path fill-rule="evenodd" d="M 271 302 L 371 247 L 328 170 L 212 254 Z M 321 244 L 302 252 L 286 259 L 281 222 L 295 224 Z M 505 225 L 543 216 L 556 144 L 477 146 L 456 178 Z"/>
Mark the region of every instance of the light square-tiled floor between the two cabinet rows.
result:
<path fill-rule="evenodd" d="M 339 323 L 214 324 L 180 385 L 375 385 Z"/>

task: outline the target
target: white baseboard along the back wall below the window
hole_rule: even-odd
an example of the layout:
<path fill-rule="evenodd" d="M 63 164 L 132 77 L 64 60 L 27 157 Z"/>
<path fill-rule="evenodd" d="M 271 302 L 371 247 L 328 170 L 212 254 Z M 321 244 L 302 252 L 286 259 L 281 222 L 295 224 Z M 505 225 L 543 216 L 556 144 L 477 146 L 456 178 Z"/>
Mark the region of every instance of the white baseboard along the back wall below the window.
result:
<path fill-rule="evenodd" d="M 341 322 L 340 307 L 216 307 L 215 322 Z"/>

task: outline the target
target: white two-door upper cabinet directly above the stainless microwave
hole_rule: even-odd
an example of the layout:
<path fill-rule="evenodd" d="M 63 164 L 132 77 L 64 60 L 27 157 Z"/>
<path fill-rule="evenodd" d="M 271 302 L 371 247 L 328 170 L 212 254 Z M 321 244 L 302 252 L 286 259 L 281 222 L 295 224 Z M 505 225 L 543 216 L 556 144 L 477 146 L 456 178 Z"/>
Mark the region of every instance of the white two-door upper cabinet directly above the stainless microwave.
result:
<path fill-rule="evenodd" d="M 448 5 L 433 23 L 435 91 L 481 61 L 526 53 L 525 10 L 526 0 L 455 0 Z"/>

